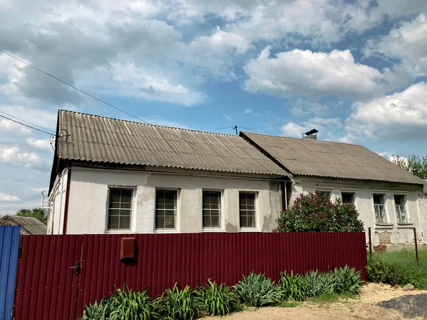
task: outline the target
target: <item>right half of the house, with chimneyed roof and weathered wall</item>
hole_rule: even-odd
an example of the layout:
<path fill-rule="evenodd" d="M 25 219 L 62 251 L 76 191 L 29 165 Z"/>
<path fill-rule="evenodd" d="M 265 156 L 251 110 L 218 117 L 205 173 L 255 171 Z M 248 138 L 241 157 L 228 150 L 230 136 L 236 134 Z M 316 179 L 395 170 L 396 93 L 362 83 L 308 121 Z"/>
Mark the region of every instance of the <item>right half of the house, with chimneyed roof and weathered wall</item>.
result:
<path fill-rule="evenodd" d="M 426 244 L 426 185 L 421 178 L 357 144 L 322 142 L 315 136 L 295 139 L 241 132 L 241 137 L 292 175 L 290 203 L 300 193 L 324 191 L 332 199 L 354 203 L 377 249 L 411 246 L 413 228 L 418 243 Z"/>

